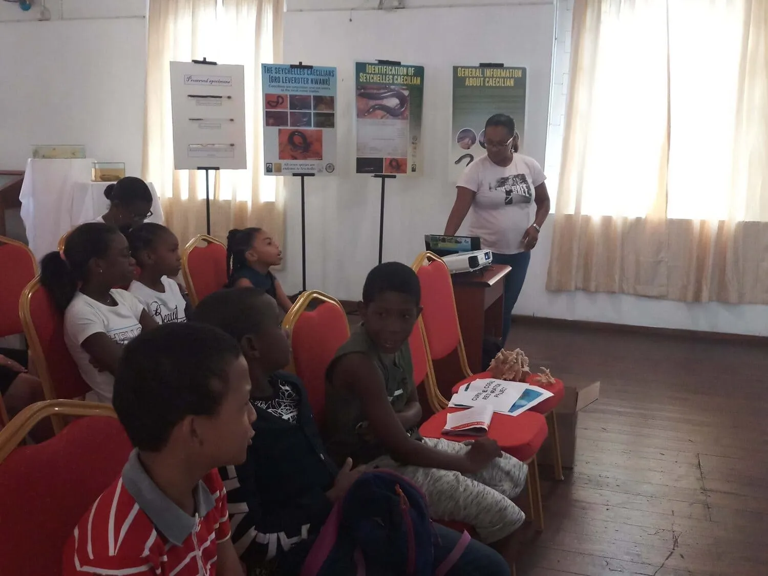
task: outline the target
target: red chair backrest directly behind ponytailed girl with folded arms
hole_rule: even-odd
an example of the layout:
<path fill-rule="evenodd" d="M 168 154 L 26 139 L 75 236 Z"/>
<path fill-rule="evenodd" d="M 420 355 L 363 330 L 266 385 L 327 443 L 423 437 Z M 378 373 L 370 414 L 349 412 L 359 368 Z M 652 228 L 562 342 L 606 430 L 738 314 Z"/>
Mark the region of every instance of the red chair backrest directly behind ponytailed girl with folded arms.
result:
<path fill-rule="evenodd" d="M 80 375 L 78 365 L 65 344 L 64 316 L 37 279 L 27 286 L 22 296 L 22 320 L 46 398 L 85 396 L 91 387 Z"/>

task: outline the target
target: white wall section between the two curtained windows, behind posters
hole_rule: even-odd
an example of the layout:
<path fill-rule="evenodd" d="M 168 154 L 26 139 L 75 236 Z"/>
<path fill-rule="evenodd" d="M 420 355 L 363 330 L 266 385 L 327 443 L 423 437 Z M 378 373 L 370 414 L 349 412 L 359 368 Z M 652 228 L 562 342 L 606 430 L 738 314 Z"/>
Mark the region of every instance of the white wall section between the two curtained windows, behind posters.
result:
<path fill-rule="evenodd" d="M 307 2 L 300 2 L 306 7 Z M 319 4 L 319 3 L 318 3 Z M 327 7 L 333 2 L 323 2 Z M 341 5 L 345 2 L 340 2 Z M 408 5 L 418 2 L 409 0 Z M 357 2 L 359 5 L 359 2 Z M 296 3 L 289 2 L 289 10 Z M 481 61 L 528 68 L 526 147 L 543 163 L 551 75 L 554 6 L 407 8 L 392 12 L 288 12 L 286 62 L 339 67 L 339 110 L 353 110 L 354 62 L 388 59 L 425 66 L 422 128 L 424 176 L 387 180 L 384 259 L 410 263 L 425 233 L 439 233 L 455 195 L 449 162 L 452 65 Z M 377 262 L 381 180 L 353 174 L 353 114 L 337 114 L 339 170 L 306 181 L 307 285 L 342 299 L 359 298 Z M 297 179 L 286 179 L 289 290 L 301 287 L 300 200 Z"/>

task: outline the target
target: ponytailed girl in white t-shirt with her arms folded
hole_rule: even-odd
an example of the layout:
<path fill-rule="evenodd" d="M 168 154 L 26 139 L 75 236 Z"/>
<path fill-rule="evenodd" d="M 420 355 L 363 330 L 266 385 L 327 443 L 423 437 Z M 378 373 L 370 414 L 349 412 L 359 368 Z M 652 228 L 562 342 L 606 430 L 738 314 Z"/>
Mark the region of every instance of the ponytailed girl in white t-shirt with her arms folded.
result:
<path fill-rule="evenodd" d="M 128 242 L 106 223 L 84 223 L 69 233 L 63 257 L 48 253 L 41 261 L 40 283 L 64 313 L 64 339 L 85 382 L 86 399 L 112 401 L 114 372 L 124 344 L 157 323 L 127 286 L 135 263 Z"/>

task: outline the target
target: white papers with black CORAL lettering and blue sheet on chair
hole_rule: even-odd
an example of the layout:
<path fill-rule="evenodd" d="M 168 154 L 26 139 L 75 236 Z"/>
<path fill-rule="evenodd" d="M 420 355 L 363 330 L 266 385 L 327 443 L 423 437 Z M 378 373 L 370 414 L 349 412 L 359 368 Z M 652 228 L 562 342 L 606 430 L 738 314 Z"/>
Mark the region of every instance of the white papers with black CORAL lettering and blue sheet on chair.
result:
<path fill-rule="evenodd" d="M 462 386 L 449 406 L 491 406 L 494 412 L 516 416 L 552 396 L 552 392 L 523 382 L 478 379 Z"/>

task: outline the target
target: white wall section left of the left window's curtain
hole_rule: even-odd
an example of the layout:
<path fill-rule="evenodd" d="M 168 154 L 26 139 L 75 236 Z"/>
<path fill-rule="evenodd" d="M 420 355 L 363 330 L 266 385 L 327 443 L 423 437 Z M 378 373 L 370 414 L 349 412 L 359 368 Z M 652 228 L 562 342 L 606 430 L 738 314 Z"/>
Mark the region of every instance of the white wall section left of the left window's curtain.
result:
<path fill-rule="evenodd" d="M 84 144 L 141 174 L 147 0 L 48 0 L 51 22 L 0 2 L 0 167 L 33 144 Z"/>

